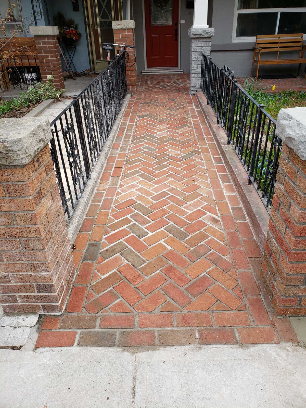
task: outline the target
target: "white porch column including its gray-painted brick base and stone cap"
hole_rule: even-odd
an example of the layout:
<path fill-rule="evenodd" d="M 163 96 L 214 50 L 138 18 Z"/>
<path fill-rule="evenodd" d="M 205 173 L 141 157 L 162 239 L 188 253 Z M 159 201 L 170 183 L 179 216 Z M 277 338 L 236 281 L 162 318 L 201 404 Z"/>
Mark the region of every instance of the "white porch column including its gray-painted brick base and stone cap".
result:
<path fill-rule="evenodd" d="M 207 25 L 207 3 L 208 0 L 195 0 L 193 9 L 193 26 L 188 29 L 191 38 L 190 44 L 190 87 L 191 94 L 200 90 L 201 84 L 201 61 L 202 54 L 211 55 L 211 37 L 215 29 Z"/>

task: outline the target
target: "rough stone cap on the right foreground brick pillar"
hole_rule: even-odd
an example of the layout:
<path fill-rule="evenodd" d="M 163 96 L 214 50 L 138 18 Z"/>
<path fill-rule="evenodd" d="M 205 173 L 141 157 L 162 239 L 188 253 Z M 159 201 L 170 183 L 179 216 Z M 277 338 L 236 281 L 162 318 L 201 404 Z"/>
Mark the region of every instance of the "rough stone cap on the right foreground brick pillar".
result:
<path fill-rule="evenodd" d="M 306 160 L 306 108 L 281 109 L 275 134 L 302 160 Z"/>

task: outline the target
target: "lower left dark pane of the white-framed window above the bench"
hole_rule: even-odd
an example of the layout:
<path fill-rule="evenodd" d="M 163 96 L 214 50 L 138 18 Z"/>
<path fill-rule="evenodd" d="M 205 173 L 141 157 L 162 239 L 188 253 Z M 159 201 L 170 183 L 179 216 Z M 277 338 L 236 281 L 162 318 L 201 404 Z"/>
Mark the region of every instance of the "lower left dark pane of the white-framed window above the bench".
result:
<path fill-rule="evenodd" d="M 277 13 L 243 13 L 237 16 L 236 37 L 275 34 Z"/>

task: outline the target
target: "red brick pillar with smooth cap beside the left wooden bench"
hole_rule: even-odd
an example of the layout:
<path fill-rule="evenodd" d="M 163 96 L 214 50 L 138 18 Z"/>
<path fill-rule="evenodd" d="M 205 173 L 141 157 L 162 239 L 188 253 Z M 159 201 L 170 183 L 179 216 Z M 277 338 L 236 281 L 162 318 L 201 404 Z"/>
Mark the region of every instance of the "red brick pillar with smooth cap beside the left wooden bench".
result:
<path fill-rule="evenodd" d="M 30 27 L 30 33 L 31 35 L 34 35 L 35 38 L 42 82 L 47 81 L 48 75 L 53 75 L 55 88 L 64 88 L 65 84 L 62 62 L 60 60 L 60 47 L 58 45 L 58 27 L 33 26 Z"/>

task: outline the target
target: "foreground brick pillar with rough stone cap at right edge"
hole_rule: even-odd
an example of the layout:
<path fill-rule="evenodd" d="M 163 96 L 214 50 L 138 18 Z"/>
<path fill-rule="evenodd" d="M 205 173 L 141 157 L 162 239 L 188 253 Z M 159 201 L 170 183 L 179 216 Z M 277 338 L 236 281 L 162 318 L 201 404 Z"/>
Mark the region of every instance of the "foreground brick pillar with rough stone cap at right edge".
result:
<path fill-rule="evenodd" d="M 306 108 L 281 109 L 283 140 L 262 279 L 276 313 L 306 315 Z"/>

